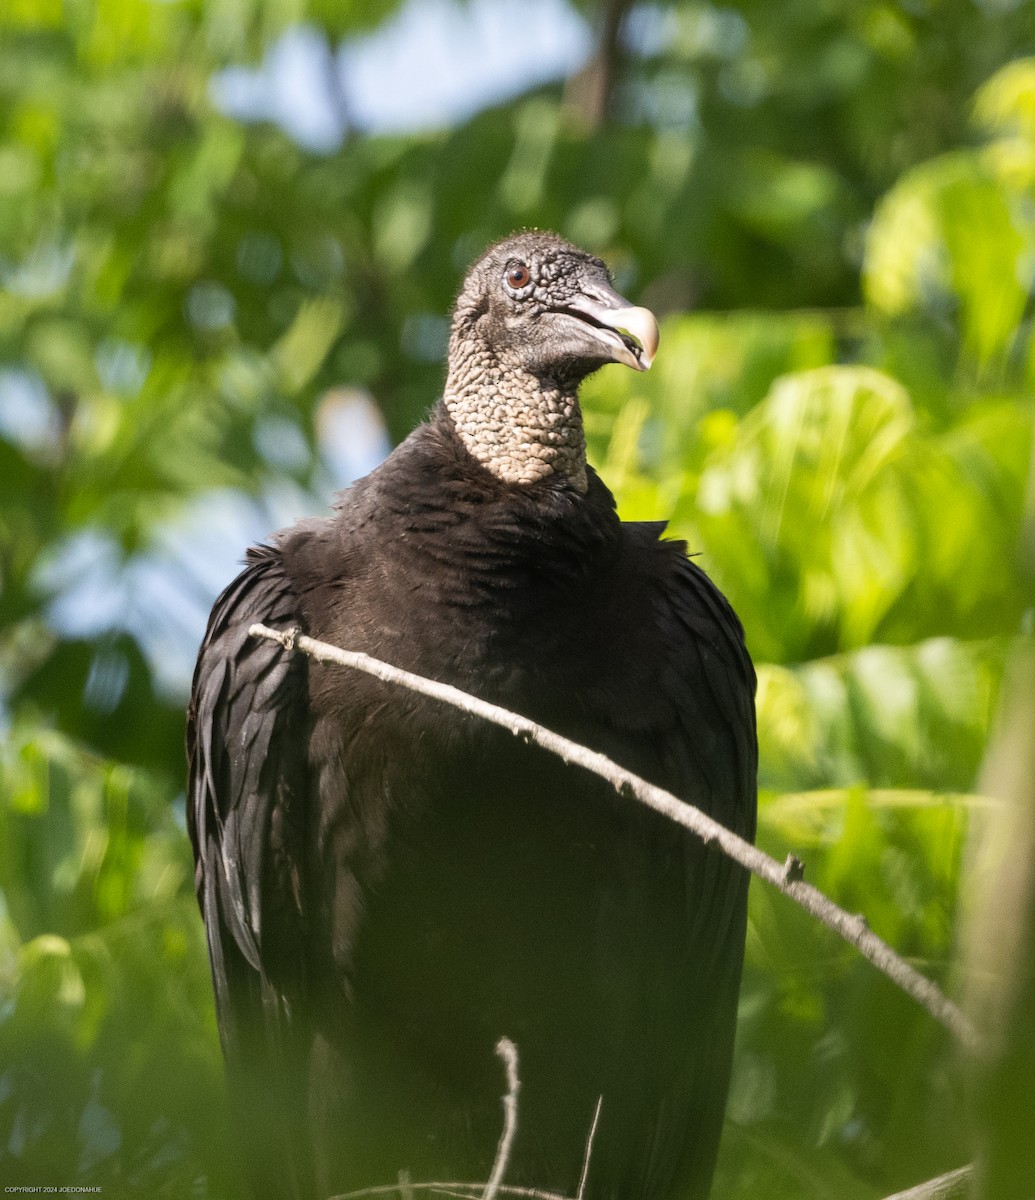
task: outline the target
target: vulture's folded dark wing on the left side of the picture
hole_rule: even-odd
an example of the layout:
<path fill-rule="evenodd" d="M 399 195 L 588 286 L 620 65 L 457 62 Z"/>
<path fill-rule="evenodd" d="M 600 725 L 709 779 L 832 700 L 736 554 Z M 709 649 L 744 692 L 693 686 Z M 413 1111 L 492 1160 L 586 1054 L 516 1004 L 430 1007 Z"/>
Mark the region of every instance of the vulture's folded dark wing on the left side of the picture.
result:
<path fill-rule="evenodd" d="M 249 1166 L 257 1195 L 280 1198 L 306 1194 L 307 1166 L 286 1130 L 304 1121 L 310 1037 L 303 887 L 310 718 L 305 659 L 250 637 L 256 622 L 299 624 L 280 552 L 268 546 L 249 552 L 216 601 L 198 655 L 187 714 L 187 827 L 229 1082 L 250 1110 Z"/>

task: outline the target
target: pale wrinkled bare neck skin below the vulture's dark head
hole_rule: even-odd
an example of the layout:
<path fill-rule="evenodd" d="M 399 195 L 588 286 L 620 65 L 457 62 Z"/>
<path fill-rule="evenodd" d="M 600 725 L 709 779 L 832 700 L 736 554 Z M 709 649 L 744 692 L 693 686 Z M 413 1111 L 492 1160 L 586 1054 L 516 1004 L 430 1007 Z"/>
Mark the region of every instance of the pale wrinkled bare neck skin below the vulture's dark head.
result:
<path fill-rule="evenodd" d="M 443 401 L 463 445 L 497 478 L 533 484 L 561 476 L 585 494 L 578 383 L 540 378 L 454 334 Z"/>

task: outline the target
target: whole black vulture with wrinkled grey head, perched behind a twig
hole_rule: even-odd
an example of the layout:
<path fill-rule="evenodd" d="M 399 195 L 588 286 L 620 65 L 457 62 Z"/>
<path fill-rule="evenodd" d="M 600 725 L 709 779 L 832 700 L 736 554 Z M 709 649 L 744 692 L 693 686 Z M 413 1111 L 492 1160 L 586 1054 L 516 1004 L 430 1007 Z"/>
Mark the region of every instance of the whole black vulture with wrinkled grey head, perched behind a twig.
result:
<path fill-rule="evenodd" d="M 455 684 L 753 836 L 741 625 L 586 463 L 579 384 L 646 370 L 657 340 L 598 258 L 540 232 L 491 247 L 427 422 L 216 601 L 189 817 L 257 1196 L 484 1182 L 501 1037 L 520 1056 L 509 1187 L 707 1195 L 746 874 L 509 733 L 247 634 L 298 626 Z"/>

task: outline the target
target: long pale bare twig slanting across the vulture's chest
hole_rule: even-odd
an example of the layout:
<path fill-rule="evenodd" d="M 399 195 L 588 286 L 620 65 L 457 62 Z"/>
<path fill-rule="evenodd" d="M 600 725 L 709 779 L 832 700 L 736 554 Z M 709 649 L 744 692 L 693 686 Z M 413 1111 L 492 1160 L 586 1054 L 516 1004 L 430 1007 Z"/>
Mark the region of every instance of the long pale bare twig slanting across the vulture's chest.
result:
<path fill-rule="evenodd" d="M 280 630 L 256 624 L 249 629 L 249 634 L 252 637 L 264 637 L 270 642 L 279 642 L 287 650 L 299 649 L 317 662 L 353 667 L 384 683 L 399 684 L 411 691 L 419 692 L 421 696 L 430 696 L 432 700 L 451 704 L 465 713 L 480 716 L 492 725 L 509 730 L 510 733 L 525 742 L 533 742 L 567 763 L 585 767 L 586 770 L 611 784 L 620 794 L 635 798 L 641 804 L 646 804 L 647 808 L 669 817 L 670 821 L 683 826 L 700 838 L 706 846 L 714 844 L 734 862 L 779 888 L 784 895 L 800 904 L 816 920 L 821 920 L 828 929 L 855 946 L 863 958 L 868 959 L 908 996 L 926 1008 L 968 1050 L 977 1052 L 980 1049 L 977 1031 L 941 989 L 896 954 L 887 942 L 878 937 L 867 925 L 865 917 L 845 912 L 818 888 L 806 883 L 800 877 L 801 865 L 796 859 L 791 858 L 784 864 L 778 863 L 749 841 L 744 841 L 743 838 L 738 838 L 725 826 L 719 824 L 706 812 L 686 800 L 681 800 L 671 792 L 648 784 L 645 779 L 626 770 L 624 767 L 620 767 L 604 755 L 588 750 L 576 742 L 569 742 L 560 733 L 554 733 L 552 730 L 537 725 L 536 721 L 530 721 L 527 716 L 520 716 L 518 713 L 499 708 L 497 704 L 490 704 L 460 688 L 454 688 L 451 684 L 425 679 L 424 676 L 402 671 L 400 667 L 394 667 L 358 650 L 343 650 L 339 646 L 318 642 L 298 629 Z"/>

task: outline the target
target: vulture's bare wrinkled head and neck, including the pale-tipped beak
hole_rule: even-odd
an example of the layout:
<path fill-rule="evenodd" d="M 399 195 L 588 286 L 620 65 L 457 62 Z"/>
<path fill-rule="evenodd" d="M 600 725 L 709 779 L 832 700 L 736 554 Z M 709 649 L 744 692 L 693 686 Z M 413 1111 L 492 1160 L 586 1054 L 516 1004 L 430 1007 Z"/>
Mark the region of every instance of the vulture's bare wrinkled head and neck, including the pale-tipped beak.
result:
<path fill-rule="evenodd" d="M 498 478 L 554 476 L 585 492 L 578 388 L 605 362 L 646 371 L 658 323 L 622 299 L 608 268 L 550 233 L 490 247 L 460 289 L 449 338 L 447 412 Z"/>

